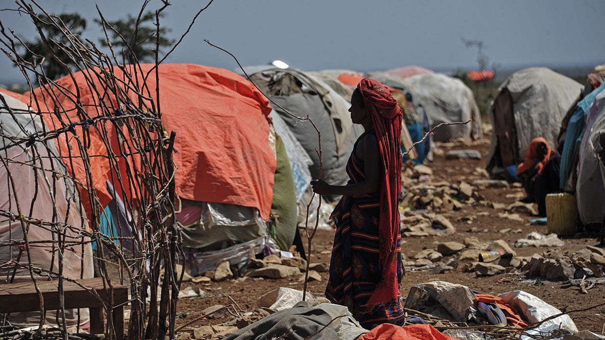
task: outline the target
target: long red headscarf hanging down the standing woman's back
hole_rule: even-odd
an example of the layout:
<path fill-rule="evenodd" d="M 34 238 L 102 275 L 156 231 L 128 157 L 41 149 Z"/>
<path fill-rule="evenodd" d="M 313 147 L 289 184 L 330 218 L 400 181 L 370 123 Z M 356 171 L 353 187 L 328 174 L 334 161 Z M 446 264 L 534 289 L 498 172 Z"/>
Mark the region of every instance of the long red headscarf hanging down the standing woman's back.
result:
<path fill-rule="evenodd" d="M 401 120 L 403 112 L 391 93 L 373 79 L 362 79 L 357 85 L 370 114 L 382 159 L 379 261 L 382 280 L 370 296 L 367 306 L 376 306 L 399 298 L 397 284 L 397 237 L 399 237 L 399 210 L 397 198 L 401 192 Z"/>

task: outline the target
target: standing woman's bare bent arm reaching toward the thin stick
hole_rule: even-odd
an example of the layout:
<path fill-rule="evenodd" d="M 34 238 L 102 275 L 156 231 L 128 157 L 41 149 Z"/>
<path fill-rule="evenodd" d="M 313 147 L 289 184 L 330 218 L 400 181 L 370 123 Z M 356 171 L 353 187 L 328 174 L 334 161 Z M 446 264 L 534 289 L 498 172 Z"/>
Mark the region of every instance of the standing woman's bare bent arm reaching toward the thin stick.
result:
<path fill-rule="evenodd" d="M 358 144 L 358 157 L 364 160 L 365 180 L 348 185 L 329 185 L 322 180 L 312 180 L 313 191 L 321 195 L 364 195 L 380 188 L 381 158 L 376 135 L 367 134 Z M 353 150 L 356 152 L 356 150 Z"/>

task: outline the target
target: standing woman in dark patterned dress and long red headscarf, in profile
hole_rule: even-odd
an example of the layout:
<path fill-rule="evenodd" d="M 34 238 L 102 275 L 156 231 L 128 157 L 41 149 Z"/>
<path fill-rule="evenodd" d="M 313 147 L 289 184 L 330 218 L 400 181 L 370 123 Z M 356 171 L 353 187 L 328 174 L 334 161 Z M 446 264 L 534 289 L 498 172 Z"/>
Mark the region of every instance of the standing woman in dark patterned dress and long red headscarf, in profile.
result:
<path fill-rule="evenodd" d="M 322 195 L 342 195 L 332 212 L 336 234 L 325 296 L 346 306 L 367 329 L 402 325 L 399 301 L 402 111 L 387 88 L 362 79 L 351 97 L 353 123 L 364 126 L 347 163 L 347 185 L 311 182 Z"/>

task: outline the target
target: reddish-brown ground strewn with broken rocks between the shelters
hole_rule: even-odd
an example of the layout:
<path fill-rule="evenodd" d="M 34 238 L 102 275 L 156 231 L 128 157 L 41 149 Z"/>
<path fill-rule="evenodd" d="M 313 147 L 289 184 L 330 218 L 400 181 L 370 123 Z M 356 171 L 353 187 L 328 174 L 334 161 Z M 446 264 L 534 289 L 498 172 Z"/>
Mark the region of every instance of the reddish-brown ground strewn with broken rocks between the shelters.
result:
<path fill-rule="evenodd" d="M 409 167 L 404 171 L 407 195 L 401 209 L 406 275 L 400 286 L 402 296 L 407 296 L 414 284 L 428 281 L 462 284 L 491 295 L 524 290 L 568 312 L 578 330 L 602 333 L 605 285 L 600 277 L 605 252 L 590 247 L 597 240 L 578 233 L 546 240 L 548 246 L 531 245 L 535 240 L 518 241 L 532 232 L 546 235 L 548 226 L 530 223 L 536 218 L 532 214 L 537 206 L 520 203 L 525 197 L 520 186 L 486 181 L 489 137 L 442 143 L 438 148 L 434 162 L 426 168 Z M 459 150 L 474 150 L 465 154 L 477 154 L 479 159 L 459 159 L 451 152 Z M 310 263 L 314 271 L 310 276 L 315 280 L 309 281 L 307 291 L 320 298 L 332 240 L 330 229 L 319 229 L 312 239 Z M 303 241 L 306 244 L 305 235 Z M 503 250 L 510 255 L 478 263 L 479 253 L 487 250 Z M 266 260 L 270 263 L 281 259 Z M 220 282 L 198 277 L 183 283 L 183 291 L 190 291 L 193 297 L 178 301 L 177 329 L 181 338 L 210 339 L 213 333 L 232 332 L 238 315 L 258 309 L 260 296 L 279 287 L 302 290 L 304 273 L 292 269 L 301 264 L 295 260 L 284 264 L 290 267 L 278 274 L 286 275 L 284 278 L 267 278 L 271 274 L 257 272 L 258 277 Z M 257 265 L 264 264 L 259 261 Z M 215 309 L 218 312 L 212 313 Z M 257 311 L 247 321 L 240 319 L 240 325 L 263 315 Z M 214 338 L 220 336 L 215 334 Z"/>

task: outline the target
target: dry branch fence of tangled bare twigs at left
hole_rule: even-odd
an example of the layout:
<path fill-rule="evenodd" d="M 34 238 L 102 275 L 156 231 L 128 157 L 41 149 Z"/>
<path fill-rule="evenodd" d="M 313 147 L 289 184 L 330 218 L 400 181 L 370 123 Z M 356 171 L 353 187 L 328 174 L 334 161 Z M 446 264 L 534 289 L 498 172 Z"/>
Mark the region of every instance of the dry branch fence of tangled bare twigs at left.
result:
<path fill-rule="evenodd" d="M 136 56 L 113 50 L 113 27 L 100 11 L 110 53 L 74 35 L 36 2 L 16 4 L 24 21 L 38 28 L 48 55 L 24 60 L 19 49 L 27 45 L 0 22 L 2 51 L 30 88 L 29 108 L 10 100 L 0 103 L 0 191 L 6 195 L 0 203 L 2 282 L 30 281 L 39 292 L 39 282 L 56 280 L 62 296 L 62 283 L 90 278 L 94 267 L 110 292 L 116 284 L 129 287 L 128 330 L 113 329 L 115 306 L 105 306 L 110 338 L 122 332 L 129 339 L 174 338 L 183 274 L 176 270 L 182 252 L 175 224 L 175 135 L 163 128 L 159 92 L 141 81 L 152 77 L 159 83 L 161 60 L 156 54 L 156 67 L 145 73 L 136 62 L 126 62 Z M 155 11 L 158 33 L 160 12 L 169 5 L 162 4 Z M 45 27 L 60 31 L 64 39 L 48 38 Z M 149 38 L 159 39 L 159 34 Z M 68 60 L 59 59 L 59 52 Z M 49 57 L 68 72 L 62 81 L 45 76 Z M 77 77 L 68 65 L 80 71 Z M 119 216 L 105 209 L 110 202 Z M 101 230 L 112 219 L 119 231 L 108 237 Z M 39 310 L 44 310 L 43 299 Z M 70 322 L 77 324 L 85 315 L 64 309 L 46 314 L 47 320 L 44 313 L 34 318 L 41 326 L 58 326 L 65 339 Z M 4 315 L 0 336 L 11 320 Z"/>

